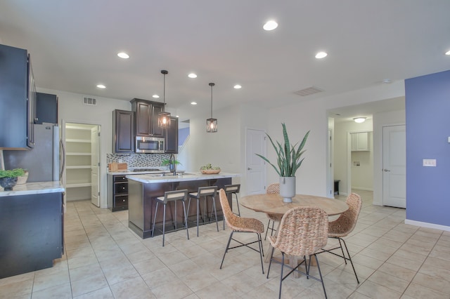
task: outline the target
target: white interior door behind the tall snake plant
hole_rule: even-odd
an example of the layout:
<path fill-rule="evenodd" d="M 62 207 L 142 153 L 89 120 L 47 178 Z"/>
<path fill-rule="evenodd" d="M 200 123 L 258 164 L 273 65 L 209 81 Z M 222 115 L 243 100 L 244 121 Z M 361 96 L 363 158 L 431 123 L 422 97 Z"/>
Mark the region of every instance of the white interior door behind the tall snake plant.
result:
<path fill-rule="evenodd" d="M 247 129 L 245 140 L 247 194 L 265 193 L 266 165 L 256 154 L 266 156 L 266 133 L 262 130 Z"/>

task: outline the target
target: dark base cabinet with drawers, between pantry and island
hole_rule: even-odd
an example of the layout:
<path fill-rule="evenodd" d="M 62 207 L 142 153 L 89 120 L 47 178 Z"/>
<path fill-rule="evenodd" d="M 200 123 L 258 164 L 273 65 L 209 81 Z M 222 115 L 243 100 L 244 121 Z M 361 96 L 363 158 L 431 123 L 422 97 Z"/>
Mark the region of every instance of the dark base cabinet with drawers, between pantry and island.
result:
<path fill-rule="evenodd" d="M 128 210 L 128 179 L 125 175 L 108 174 L 108 208 Z"/>

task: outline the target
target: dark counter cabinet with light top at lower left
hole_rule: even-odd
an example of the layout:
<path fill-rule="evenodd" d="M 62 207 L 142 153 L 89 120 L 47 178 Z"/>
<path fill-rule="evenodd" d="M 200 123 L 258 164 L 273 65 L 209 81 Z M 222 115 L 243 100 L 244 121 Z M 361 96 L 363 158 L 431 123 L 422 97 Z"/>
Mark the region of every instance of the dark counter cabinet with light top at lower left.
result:
<path fill-rule="evenodd" d="M 0 279 L 53 267 L 63 254 L 60 182 L 0 188 Z"/>

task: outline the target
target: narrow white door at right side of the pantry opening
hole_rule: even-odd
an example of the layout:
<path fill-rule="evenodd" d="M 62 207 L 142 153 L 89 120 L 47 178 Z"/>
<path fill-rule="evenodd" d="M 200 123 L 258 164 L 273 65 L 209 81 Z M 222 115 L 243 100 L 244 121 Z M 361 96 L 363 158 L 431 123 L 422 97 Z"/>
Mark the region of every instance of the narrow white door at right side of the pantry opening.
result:
<path fill-rule="evenodd" d="M 100 126 L 91 128 L 91 202 L 100 207 Z"/>

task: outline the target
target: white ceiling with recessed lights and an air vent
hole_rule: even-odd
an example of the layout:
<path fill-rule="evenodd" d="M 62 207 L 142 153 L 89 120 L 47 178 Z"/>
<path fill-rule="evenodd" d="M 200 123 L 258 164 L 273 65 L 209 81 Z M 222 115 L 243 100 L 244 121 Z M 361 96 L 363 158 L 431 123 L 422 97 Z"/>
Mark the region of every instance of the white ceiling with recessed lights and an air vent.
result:
<path fill-rule="evenodd" d="M 450 69 L 449 12 L 449 0 L 3 0 L 0 43 L 30 52 L 38 88 L 162 102 L 167 69 L 167 107 L 210 114 L 210 82 L 214 109 L 269 108 Z M 323 91 L 295 94 L 311 86 Z"/>

